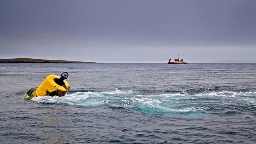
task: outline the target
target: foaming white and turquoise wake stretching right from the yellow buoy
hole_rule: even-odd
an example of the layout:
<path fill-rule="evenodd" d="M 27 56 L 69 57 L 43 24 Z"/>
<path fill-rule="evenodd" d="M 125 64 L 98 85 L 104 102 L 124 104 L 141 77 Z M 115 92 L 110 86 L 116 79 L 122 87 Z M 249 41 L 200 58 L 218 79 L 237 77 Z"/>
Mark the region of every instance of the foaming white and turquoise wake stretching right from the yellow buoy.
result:
<path fill-rule="evenodd" d="M 158 95 L 141 95 L 138 91 L 87 91 L 74 92 L 64 97 L 35 97 L 32 100 L 39 103 L 57 103 L 87 107 L 122 107 L 147 112 L 161 113 L 186 113 L 204 112 L 210 108 L 205 106 L 205 100 L 211 97 L 245 97 L 246 103 L 255 104 L 255 100 L 246 99 L 255 97 L 256 91 L 235 92 L 235 91 L 204 91 L 198 94 L 189 95 L 186 91 L 177 93 L 161 93 Z M 228 104 L 228 102 L 223 101 Z"/>

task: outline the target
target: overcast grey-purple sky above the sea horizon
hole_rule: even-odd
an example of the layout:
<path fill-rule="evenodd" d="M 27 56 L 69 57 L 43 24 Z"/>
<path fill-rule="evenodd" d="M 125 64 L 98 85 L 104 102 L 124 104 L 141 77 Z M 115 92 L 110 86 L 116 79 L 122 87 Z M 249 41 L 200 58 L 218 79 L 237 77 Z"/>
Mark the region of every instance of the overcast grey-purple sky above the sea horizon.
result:
<path fill-rule="evenodd" d="M 256 0 L 0 0 L 0 59 L 256 62 Z"/>

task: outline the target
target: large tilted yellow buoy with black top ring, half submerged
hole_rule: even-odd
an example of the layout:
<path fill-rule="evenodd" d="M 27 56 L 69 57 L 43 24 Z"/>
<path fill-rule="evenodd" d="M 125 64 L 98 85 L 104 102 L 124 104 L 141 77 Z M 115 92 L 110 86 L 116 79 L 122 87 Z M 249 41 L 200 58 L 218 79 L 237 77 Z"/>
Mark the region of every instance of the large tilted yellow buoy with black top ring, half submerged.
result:
<path fill-rule="evenodd" d="M 70 90 L 70 85 L 65 80 L 67 78 L 67 72 L 63 72 L 61 76 L 57 76 L 54 74 L 48 75 L 39 87 L 29 89 L 24 94 L 24 98 L 32 99 L 33 97 L 39 96 L 65 96 L 68 90 Z"/>

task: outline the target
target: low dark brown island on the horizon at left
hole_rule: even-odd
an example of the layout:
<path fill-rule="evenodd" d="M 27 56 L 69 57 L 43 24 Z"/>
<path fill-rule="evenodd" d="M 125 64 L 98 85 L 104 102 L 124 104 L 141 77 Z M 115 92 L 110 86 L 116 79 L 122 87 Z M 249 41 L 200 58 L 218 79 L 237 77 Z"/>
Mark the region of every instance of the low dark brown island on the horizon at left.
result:
<path fill-rule="evenodd" d="M 96 63 L 96 62 L 47 60 L 47 59 L 33 59 L 33 58 L 13 58 L 13 59 L 0 59 L 0 63 Z"/>

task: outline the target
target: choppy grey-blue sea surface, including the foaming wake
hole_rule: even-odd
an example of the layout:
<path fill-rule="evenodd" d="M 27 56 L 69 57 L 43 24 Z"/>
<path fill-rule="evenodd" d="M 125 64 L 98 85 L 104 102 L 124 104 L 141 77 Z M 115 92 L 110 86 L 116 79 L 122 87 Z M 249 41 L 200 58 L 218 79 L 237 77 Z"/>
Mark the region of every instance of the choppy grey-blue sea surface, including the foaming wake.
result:
<path fill-rule="evenodd" d="M 22 95 L 68 72 L 64 97 Z M 256 143 L 256 63 L 0 64 L 0 143 Z"/>

